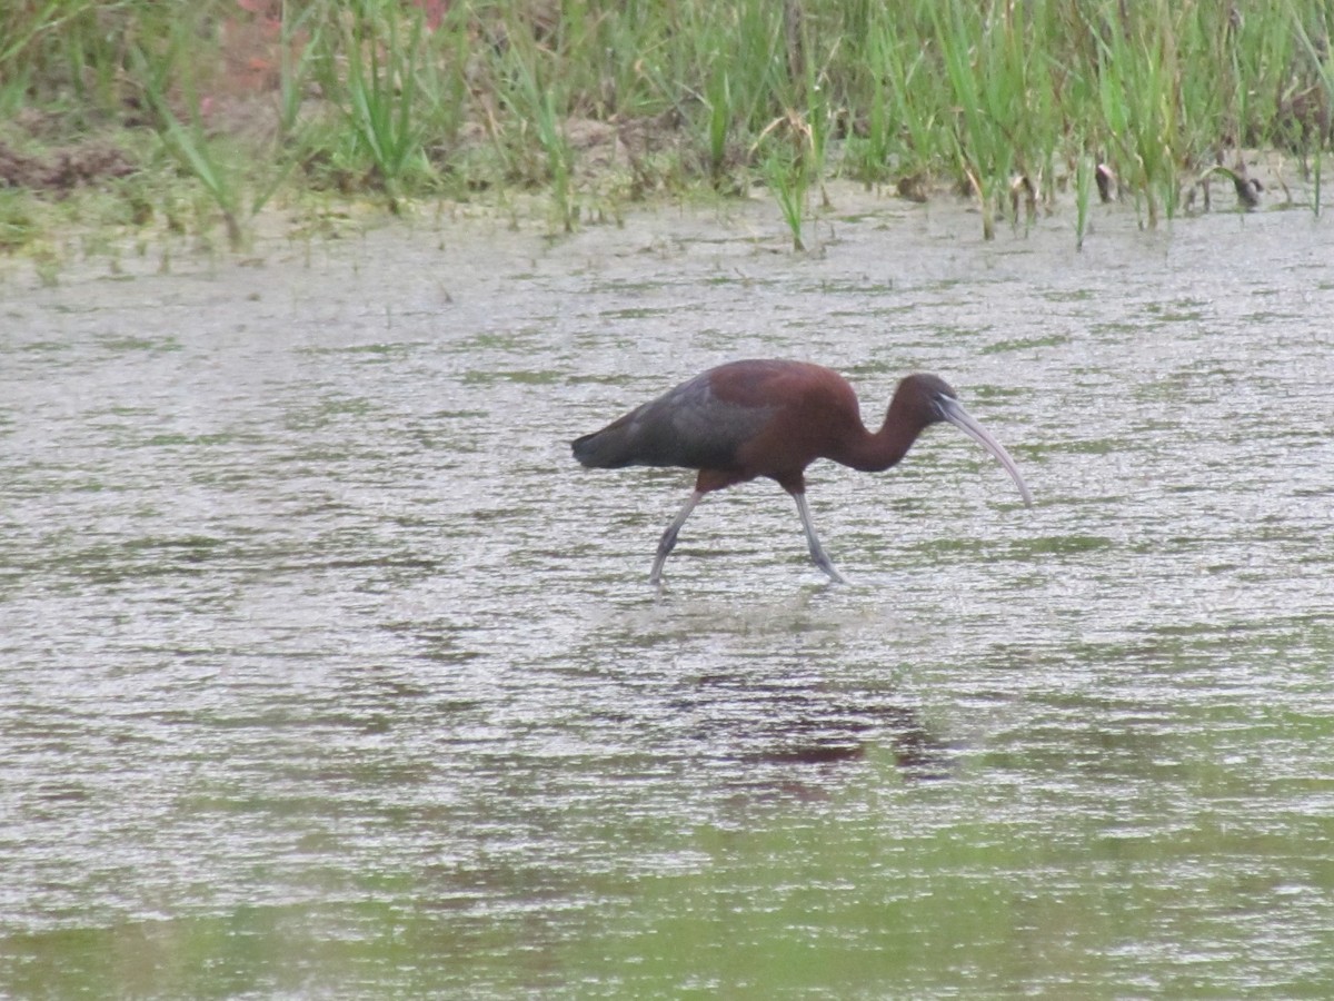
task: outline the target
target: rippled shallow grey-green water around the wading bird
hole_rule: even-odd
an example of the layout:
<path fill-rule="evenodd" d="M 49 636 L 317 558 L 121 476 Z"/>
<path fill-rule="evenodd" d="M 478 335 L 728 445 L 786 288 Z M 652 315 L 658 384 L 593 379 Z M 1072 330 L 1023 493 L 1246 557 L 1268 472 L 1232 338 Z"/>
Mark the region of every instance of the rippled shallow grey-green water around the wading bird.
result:
<path fill-rule="evenodd" d="M 1334 252 L 847 191 L 0 286 L 0 993 L 1334 993 Z M 948 427 L 568 440 L 711 364 Z"/>

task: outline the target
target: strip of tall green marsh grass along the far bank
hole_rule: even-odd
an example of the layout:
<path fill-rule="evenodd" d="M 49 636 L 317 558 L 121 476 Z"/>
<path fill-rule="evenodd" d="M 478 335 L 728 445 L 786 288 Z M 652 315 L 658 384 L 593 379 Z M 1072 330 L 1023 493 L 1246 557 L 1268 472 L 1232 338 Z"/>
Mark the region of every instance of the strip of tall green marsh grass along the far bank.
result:
<path fill-rule="evenodd" d="M 956 186 L 976 199 L 986 236 L 1017 178 L 1050 199 L 1058 167 L 1078 175 L 1090 156 L 1113 167 L 1150 227 L 1243 147 L 1314 165 L 1318 192 L 1334 119 L 1326 0 L 255 7 L 5 4 L 0 141 L 29 139 L 12 123 L 33 116 L 52 147 L 151 128 L 233 244 L 272 196 L 301 190 L 400 211 L 540 188 L 564 232 L 608 191 L 731 194 L 755 180 L 799 242 L 794 210 L 804 214 L 807 191 L 823 194 L 834 174 Z M 220 107 L 245 101 L 271 119 L 263 136 L 219 120 Z M 587 120 L 639 145 L 576 145 L 571 123 Z M 618 172 L 624 183 L 608 184 Z M 1077 211 L 1082 239 L 1087 204 Z"/>

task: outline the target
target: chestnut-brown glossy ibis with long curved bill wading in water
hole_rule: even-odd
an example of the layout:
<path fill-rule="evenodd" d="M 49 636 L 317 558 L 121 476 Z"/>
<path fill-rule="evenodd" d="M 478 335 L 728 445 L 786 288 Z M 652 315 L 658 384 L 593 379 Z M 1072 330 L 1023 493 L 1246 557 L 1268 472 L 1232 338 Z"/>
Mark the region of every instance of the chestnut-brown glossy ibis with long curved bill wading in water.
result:
<path fill-rule="evenodd" d="M 602 431 L 575 439 L 575 458 L 594 468 L 683 466 L 699 470 L 695 490 L 667 526 L 648 577 L 662 583 L 676 535 L 704 494 L 756 476 L 778 480 L 796 500 L 811 559 L 847 583 L 824 553 L 806 506 L 806 467 L 832 459 L 879 472 L 902 459 L 930 424 L 948 420 L 1000 460 L 1026 505 L 1023 476 L 1000 443 L 959 404 L 938 375 L 910 375 L 894 391 L 879 431 L 862 423 L 856 394 L 842 375 L 806 362 L 731 362 L 710 368 Z"/>

